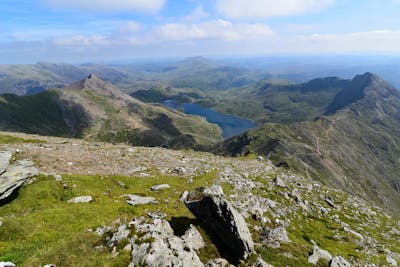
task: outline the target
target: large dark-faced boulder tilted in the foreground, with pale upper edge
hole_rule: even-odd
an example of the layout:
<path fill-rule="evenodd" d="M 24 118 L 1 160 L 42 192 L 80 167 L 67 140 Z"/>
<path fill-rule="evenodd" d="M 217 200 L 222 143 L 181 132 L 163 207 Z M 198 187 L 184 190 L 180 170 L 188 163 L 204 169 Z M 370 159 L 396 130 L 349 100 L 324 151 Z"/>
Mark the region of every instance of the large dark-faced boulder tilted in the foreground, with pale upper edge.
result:
<path fill-rule="evenodd" d="M 184 203 L 234 258 L 244 259 L 254 251 L 246 221 L 223 195 L 201 187 L 190 192 Z"/>

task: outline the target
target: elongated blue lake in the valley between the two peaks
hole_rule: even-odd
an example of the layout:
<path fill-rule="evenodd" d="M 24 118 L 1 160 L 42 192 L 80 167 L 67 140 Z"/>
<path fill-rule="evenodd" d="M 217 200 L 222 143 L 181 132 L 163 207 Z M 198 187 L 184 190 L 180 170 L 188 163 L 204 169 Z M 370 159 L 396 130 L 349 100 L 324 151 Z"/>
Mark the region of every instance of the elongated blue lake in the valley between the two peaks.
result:
<path fill-rule="evenodd" d="M 222 137 L 224 139 L 231 138 L 256 127 L 256 124 L 250 120 L 220 113 L 198 104 L 178 104 L 175 100 L 165 100 L 161 104 L 172 109 L 180 109 L 186 114 L 204 117 L 208 122 L 217 124 L 222 129 Z"/>

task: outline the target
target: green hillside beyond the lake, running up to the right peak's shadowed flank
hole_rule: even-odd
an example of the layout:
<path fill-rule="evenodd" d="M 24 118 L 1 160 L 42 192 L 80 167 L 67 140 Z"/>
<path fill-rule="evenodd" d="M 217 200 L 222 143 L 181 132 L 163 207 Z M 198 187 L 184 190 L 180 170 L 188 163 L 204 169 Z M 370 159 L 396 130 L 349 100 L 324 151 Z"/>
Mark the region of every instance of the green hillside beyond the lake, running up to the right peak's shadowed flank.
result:
<path fill-rule="evenodd" d="M 261 81 L 240 90 L 231 90 L 214 104 L 214 108 L 259 123 L 312 121 L 361 98 L 366 86 L 364 82 L 362 75 L 352 80 L 328 77 L 301 84 Z"/>

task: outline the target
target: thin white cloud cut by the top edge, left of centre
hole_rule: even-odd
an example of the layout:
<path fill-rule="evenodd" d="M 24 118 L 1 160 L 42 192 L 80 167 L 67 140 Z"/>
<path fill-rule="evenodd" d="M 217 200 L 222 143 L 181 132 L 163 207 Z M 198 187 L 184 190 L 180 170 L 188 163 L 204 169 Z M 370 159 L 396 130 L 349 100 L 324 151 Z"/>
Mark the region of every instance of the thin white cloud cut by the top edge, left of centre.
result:
<path fill-rule="evenodd" d="M 78 9 L 86 11 L 137 11 L 157 12 L 165 0 L 43 0 L 55 8 Z"/>

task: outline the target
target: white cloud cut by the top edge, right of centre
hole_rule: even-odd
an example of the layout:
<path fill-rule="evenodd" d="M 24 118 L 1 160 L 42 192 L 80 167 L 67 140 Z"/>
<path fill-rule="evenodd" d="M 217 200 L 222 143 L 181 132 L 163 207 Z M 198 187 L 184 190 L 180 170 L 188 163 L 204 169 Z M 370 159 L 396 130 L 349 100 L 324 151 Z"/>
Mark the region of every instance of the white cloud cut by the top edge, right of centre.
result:
<path fill-rule="evenodd" d="M 235 19 L 265 19 L 323 9 L 335 0 L 216 0 L 217 11 Z"/>

